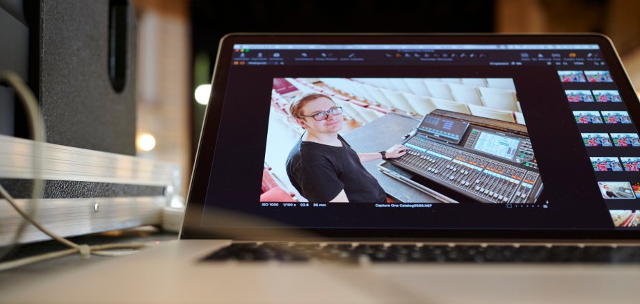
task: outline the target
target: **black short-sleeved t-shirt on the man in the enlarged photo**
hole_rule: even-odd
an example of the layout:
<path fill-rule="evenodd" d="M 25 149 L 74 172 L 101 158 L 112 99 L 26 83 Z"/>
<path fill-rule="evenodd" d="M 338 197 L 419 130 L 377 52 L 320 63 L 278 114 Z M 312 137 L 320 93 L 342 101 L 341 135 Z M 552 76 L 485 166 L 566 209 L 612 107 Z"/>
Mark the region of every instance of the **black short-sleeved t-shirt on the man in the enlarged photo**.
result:
<path fill-rule="evenodd" d="M 287 158 L 291 184 L 309 201 L 328 202 L 344 189 L 349 202 L 383 203 L 385 190 L 362 166 L 351 146 L 298 141 Z"/>

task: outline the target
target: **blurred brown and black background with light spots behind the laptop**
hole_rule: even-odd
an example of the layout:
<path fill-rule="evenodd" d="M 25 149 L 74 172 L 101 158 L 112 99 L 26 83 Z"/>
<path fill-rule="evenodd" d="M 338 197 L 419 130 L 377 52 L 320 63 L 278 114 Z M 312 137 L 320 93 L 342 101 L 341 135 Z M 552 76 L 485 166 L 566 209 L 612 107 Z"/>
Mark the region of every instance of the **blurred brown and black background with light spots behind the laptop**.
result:
<path fill-rule="evenodd" d="M 13 2 L 21 1 L 0 1 Z M 47 2 L 51 3 L 42 1 Z M 227 33 L 604 33 L 613 40 L 635 87 L 640 87 L 640 1 L 131 0 L 125 3 L 133 8 L 137 24 L 136 60 L 132 61 L 135 69 L 131 69 L 136 74 L 136 151 L 132 153 L 180 164 L 184 194 L 207 106 L 207 85 L 211 83 L 218 42 Z M 25 15 L 29 19 L 29 13 Z M 29 20 L 25 23 L 29 24 Z M 15 135 L 21 134 L 16 130 Z"/>

